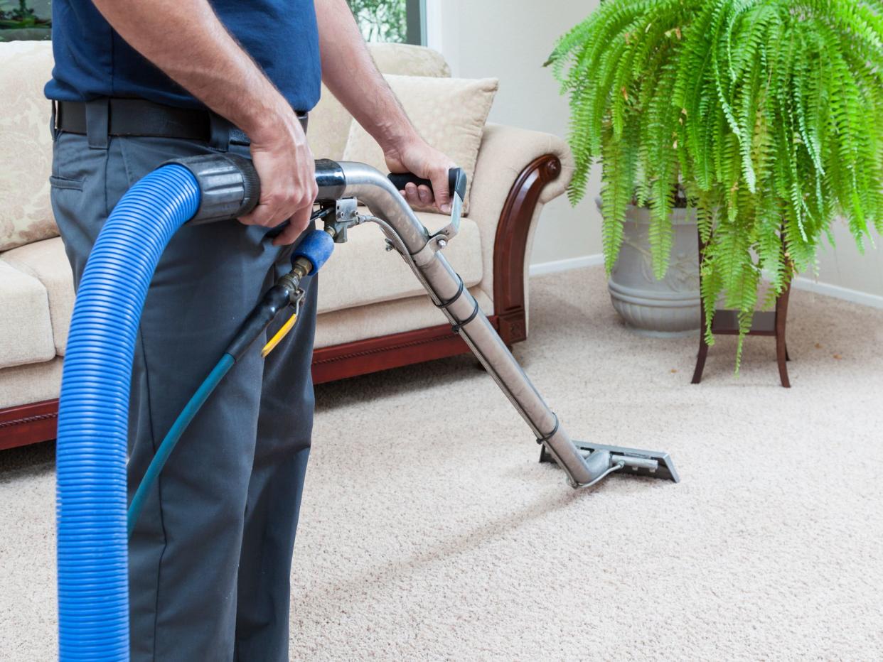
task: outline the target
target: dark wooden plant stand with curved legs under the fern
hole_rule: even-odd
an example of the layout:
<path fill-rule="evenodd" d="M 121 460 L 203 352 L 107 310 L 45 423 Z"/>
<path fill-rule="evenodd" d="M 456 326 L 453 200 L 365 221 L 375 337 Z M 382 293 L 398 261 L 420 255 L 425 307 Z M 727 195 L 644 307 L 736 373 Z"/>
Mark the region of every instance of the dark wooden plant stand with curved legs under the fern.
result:
<path fill-rule="evenodd" d="M 699 289 L 702 287 L 702 258 L 705 246 L 699 242 Z M 776 299 L 775 309 L 772 311 L 757 311 L 751 319 L 751 330 L 748 335 L 766 335 L 775 338 L 776 363 L 779 365 L 779 379 L 782 387 L 790 388 L 788 378 L 788 344 L 785 342 L 785 326 L 788 321 L 788 298 L 791 292 L 791 282 L 782 290 Z M 702 328 L 699 333 L 699 353 L 696 357 L 696 370 L 693 371 L 691 383 L 698 384 L 702 381 L 702 371 L 706 367 L 708 357 L 708 343 L 706 342 L 706 306 L 701 304 Z M 739 335 L 738 311 L 718 309 L 714 311 L 712 318 L 713 335 Z"/>

